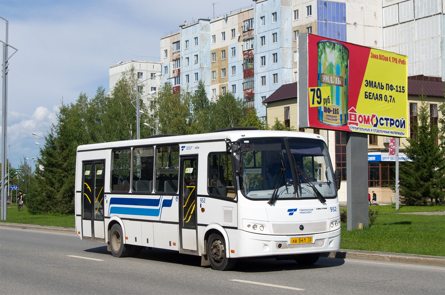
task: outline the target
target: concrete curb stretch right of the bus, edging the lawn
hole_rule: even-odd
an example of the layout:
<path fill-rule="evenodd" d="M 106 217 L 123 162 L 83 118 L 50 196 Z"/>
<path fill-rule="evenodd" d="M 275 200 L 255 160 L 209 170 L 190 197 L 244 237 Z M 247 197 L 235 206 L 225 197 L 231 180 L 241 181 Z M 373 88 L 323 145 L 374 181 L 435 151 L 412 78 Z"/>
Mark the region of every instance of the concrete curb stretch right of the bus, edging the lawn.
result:
<path fill-rule="evenodd" d="M 336 252 L 322 253 L 323 257 L 343 258 L 343 259 L 360 259 L 377 262 L 391 262 L 391 263 L 407 263 L 416 265 L 429 265 L 445 267 L 445 257 L 441 256 L 427 256 L 403 253 L 389 253 L 389 252 L 373 252 L 361 250 L 344 250 Z"/>

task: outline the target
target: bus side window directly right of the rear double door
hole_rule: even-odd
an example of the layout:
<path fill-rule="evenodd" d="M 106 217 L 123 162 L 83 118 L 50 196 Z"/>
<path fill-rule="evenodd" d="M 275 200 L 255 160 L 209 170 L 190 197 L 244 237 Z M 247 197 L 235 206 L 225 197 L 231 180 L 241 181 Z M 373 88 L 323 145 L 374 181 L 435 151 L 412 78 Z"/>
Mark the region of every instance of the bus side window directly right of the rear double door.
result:
<path fill-rule="evenodd" d="M 111 167 L 111 191 L 130 189 L 130 149 L 113 150 Z"/>

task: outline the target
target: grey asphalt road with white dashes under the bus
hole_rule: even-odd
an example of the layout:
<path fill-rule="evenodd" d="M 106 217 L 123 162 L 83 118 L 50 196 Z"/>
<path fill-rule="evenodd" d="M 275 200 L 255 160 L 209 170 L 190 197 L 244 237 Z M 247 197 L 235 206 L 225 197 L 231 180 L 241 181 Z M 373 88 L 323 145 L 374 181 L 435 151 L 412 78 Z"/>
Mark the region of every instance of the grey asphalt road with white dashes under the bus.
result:
<path fill-rule="evenodd" d="M 73 255 L 73 256 L 69 256 Z M 95 259 L 95 260 L 92 260 Z M 239 261 L 232 271 L 200 258 L 146 250 L 114 258 L 77 235 L 0 228 L 1 294 L 445 294 L 445 268 L 320 258 Z M 271 285 L 267 285 L 271 284 Z"/>

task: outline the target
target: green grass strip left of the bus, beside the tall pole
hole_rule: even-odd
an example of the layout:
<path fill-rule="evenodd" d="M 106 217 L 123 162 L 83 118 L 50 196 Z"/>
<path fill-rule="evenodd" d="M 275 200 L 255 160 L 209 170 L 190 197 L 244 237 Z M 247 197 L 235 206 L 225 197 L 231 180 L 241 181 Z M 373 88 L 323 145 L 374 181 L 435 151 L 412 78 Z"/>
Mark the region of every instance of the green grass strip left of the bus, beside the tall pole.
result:
<path fill-rule="evenodd" d="M 17 212 L 17 208 L 8 208 L 6 217 L 7 220 L 1 220 L 1 222 L 75 227 L 74 214 L 29 214 L 27 207 L 20 212 Z"/>

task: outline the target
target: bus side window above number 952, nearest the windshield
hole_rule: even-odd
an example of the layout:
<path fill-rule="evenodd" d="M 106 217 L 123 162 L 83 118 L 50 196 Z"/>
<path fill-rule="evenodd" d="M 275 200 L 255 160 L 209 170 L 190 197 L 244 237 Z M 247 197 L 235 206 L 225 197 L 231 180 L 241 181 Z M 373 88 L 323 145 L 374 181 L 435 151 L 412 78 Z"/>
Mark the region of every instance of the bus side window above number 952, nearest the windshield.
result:
<path fill-rule="evenodd" d="M 208 193 L 235 198 L 232 161 L 229 154 L 209 155 Z"/>

